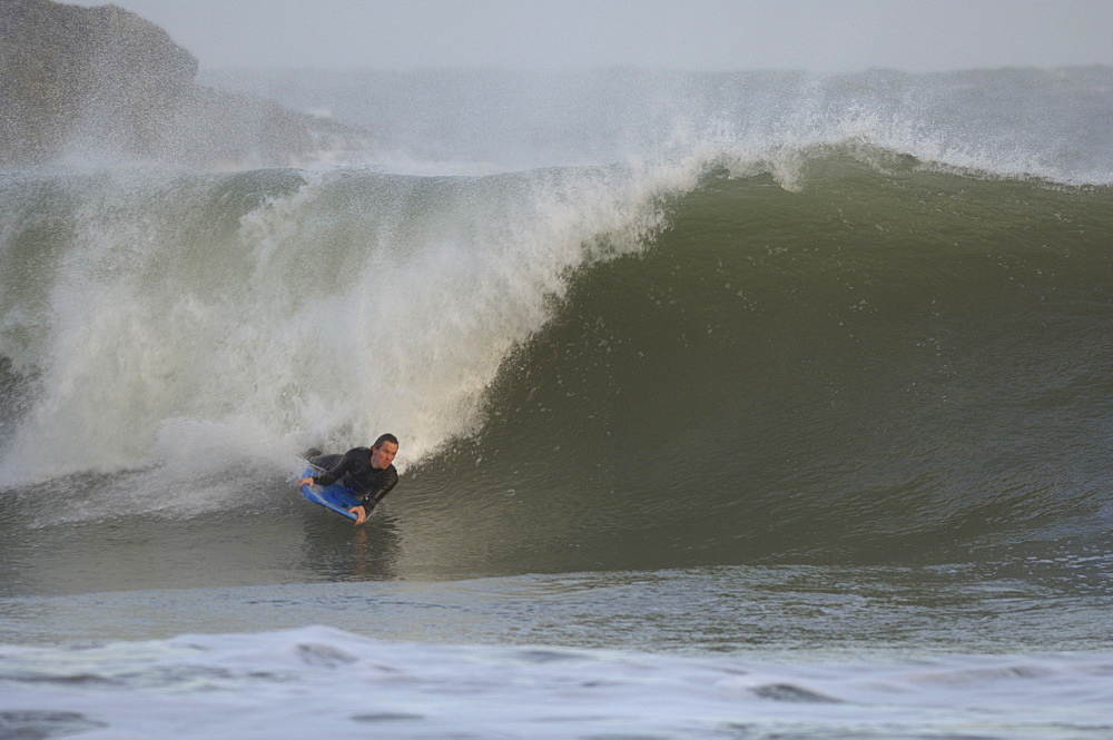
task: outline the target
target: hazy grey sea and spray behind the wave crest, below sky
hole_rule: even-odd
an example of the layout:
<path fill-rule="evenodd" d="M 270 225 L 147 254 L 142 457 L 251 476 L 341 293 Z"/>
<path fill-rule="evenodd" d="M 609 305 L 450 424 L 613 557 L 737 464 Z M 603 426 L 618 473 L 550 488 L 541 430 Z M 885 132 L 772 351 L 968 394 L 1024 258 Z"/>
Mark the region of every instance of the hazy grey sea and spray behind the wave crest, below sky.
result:
<path fill-rule="evenodd" d="M 373 164 L 394 171 L 692 155 L 791 170 L 801 149 L 849 141 L 995 176 L 1107 184 L 1109 78 L 1103 67 L 934 75 L 618 68 L 348 70 L 327 79 L 308 70 L 210 70 L 200 80 L 366 126 L 383 145 Z"/>

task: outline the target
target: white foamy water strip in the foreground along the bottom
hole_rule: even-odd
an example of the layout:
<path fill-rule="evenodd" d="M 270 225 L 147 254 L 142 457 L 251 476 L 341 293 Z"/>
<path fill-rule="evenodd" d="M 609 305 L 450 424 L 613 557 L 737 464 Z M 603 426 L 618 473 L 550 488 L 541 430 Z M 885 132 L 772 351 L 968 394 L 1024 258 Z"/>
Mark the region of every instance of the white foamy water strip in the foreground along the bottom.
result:
<path fill-rule="evenodd" d="M 771 663 L 396 643 L 312 626 L 0 654 L 0 711 L 79 712 L 106 726 L 85 734 L 93 739 L 1096 739 L 1113 701 L 1113 655 L 1101 653 Z"/>

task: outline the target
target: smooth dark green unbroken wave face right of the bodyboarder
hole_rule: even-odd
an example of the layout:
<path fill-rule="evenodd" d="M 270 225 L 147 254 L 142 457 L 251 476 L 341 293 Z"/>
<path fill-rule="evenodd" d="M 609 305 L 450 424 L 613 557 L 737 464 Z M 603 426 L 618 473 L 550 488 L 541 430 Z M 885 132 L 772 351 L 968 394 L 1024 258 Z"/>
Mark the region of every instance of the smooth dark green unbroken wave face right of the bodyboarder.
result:
<path fill-rule="evenodd" d="M 415 478 L 523 568 L 1097 536 L 1113 194 L 817 168 L 711 177 L 580 270 L 484 430 Z"/>

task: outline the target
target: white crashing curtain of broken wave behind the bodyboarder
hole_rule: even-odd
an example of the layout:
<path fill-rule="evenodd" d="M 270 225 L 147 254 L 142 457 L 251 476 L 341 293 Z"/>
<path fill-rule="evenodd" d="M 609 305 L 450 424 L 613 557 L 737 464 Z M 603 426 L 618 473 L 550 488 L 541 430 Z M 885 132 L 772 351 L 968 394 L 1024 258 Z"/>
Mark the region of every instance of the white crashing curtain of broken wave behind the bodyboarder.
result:
<path fill-rule="evenodd" d="M 568 276 L 644 248 L 661 198 L 695 171 L 75 177 L 77 206 L 52 216 L 72 230 L 8 251 L 14 273 L 50 279 L 18 287 L 4 315 L 9 343 L 33 337 L 4 354 L 37 375 L 4 476 L 165 462 L 194 446 L 186 428 L 270 460 L 394 430 L 418 460 L 475 428 L 502 358 Z"/>

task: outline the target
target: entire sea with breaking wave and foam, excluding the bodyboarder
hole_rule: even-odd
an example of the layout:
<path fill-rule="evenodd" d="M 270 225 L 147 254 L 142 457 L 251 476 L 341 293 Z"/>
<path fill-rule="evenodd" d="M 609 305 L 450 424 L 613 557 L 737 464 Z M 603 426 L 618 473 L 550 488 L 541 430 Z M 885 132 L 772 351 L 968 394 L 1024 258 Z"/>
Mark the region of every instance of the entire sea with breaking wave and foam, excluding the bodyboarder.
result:
<path fill-rule="evenodd" d="M 1113 70 L 204 81 L 373 140 L 0 171 L 0 737 L 1113 733 Z"/>

